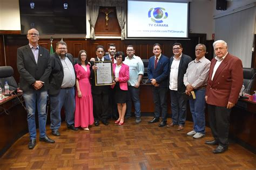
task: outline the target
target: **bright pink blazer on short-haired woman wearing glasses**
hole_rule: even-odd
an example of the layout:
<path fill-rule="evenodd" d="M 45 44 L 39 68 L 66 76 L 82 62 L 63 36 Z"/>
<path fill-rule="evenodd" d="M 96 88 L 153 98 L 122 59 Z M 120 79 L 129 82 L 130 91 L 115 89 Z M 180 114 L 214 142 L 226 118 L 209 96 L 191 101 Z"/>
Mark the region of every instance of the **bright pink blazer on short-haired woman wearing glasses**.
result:
<path fill-rule="evenodd" d="M 114 63 L 113 64 L 113 74 L 115 74 L 116 67 L 117 67 L 117 63 Z M 129 80 L 129 78 L 130 78 L 129 77 L 129 66 L 122 63 L 122 66 L 119 71 L 119 85 L 120 85 L 121 90 L 128 90 L 127 81 Z"/>

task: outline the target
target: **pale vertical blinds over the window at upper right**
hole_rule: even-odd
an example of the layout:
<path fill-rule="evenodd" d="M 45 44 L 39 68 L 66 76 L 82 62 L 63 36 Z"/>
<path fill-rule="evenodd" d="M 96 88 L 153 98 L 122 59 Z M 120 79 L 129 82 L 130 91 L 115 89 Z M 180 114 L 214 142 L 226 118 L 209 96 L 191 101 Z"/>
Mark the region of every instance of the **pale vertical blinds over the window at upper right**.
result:
<path fill-rule="evenodd" d="M 228 52 L 251 67 L 255 27 L 255 6 L 215 19 L 215 40 L 227 42 Z"/>

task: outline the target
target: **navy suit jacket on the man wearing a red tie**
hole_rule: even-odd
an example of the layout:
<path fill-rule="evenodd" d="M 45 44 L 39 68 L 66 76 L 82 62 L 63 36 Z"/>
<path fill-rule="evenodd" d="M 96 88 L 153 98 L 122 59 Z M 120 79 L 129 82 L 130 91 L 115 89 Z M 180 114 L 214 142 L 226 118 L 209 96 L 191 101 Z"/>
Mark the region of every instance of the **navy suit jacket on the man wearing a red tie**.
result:
<path fill-rule="evenodd" d="M 157 68 L 154 68 L 155 56 L 151 56 L 149 59 L 149 65 L 147 66 L 147 75 L 149 79 L 156 79 L 160 88 L 167 87 L 167 76 L 169 68 L 169 58 L 161 54 L 161 57 L 157 63 Z"/>

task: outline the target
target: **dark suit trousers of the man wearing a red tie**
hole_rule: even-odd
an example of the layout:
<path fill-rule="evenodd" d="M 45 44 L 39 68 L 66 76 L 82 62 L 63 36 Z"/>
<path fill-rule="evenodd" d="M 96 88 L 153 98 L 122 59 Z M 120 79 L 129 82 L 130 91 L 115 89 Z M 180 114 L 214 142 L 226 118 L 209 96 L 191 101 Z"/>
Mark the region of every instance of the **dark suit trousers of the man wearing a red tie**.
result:
<path fill-rule="evenodd" d="M 153 87 L 154 117 L 167 121 L 167 88 Z"/>

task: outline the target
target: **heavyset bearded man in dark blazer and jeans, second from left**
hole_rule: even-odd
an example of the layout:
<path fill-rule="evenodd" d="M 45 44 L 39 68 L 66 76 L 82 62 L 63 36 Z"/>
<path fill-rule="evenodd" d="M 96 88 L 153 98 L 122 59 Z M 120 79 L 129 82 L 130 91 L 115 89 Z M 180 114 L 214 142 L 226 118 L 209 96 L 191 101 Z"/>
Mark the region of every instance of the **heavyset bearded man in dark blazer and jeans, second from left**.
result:
<path fill-rule="evenodd" d="M 56 44 L 56 52 L 51 55 L 50 99 L 51 99 L 51 130 L 54 136 L 60 136 L 60 111 L 65 109 L 65 121 L 68 129 L 78 130 L 74 126 L 75 112 L 75 82 L 76 75 L 73 68 L 74 59 L 68 53 L 66 42 Z"/>

